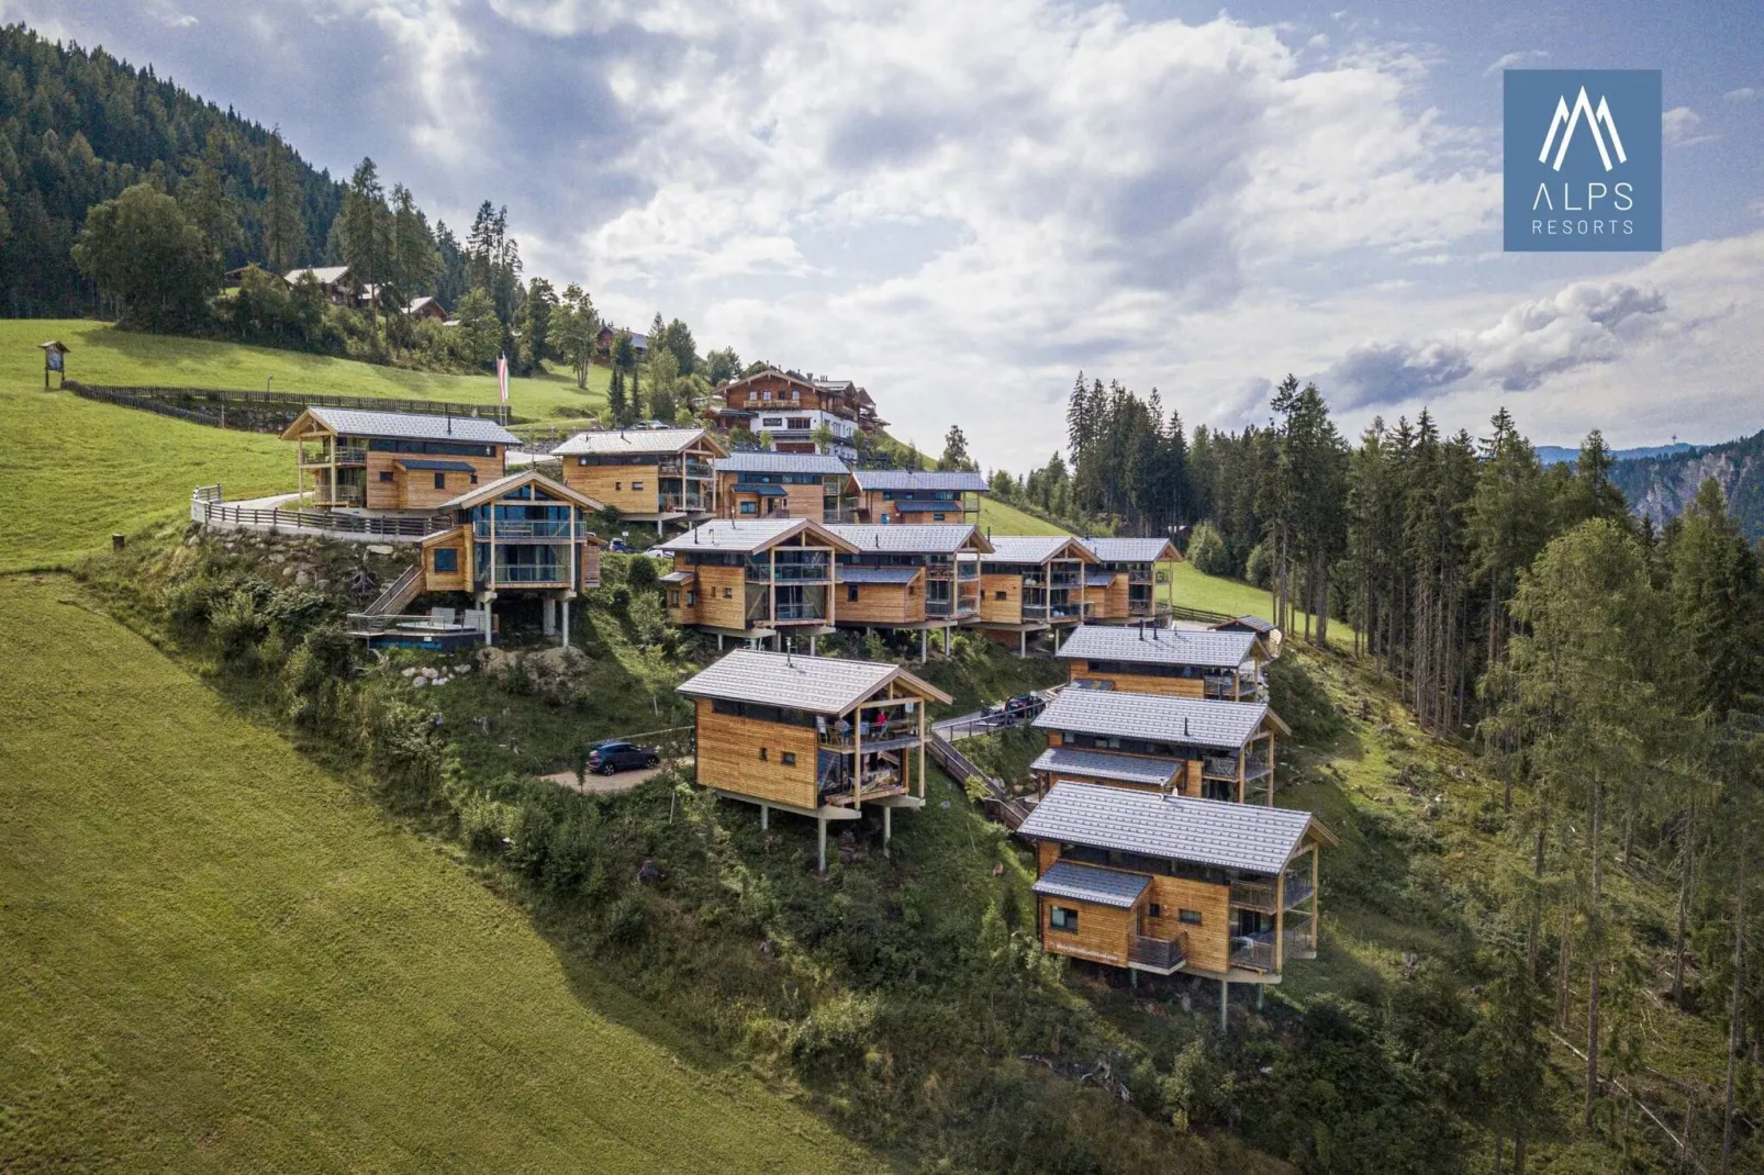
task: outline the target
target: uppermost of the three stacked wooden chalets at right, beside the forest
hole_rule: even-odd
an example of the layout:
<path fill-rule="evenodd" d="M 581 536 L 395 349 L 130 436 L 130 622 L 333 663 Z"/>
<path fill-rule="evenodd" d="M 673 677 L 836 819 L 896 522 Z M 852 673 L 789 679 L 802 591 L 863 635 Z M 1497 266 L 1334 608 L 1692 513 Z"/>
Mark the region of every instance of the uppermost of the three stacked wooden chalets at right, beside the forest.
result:
<path fill-rule="evenodd" d="M 1055 653 L 1087 690 L 1245 702 L 1265 697 L 1261 637 L 1249 632 L 1081 625 Z"/>

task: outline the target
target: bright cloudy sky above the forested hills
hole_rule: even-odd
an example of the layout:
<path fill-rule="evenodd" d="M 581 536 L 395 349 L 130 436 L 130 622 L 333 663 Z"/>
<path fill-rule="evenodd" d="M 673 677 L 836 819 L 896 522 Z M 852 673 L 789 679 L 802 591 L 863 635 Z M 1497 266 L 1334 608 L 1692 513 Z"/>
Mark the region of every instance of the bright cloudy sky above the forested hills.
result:
<path fill-rule="evenodd" d="M 1081 369 L 1185 422 L 1288 370 L 1342 425 L 1538 443 L 1764 427 L 1752 4 L 0 0 L 372 155 L 529 272 L 700 349 L 866 385 L 937 450 L 1046 460 Z M 1503 254 L 1501 69 L 1665 86 L 1665 251 Z"/>

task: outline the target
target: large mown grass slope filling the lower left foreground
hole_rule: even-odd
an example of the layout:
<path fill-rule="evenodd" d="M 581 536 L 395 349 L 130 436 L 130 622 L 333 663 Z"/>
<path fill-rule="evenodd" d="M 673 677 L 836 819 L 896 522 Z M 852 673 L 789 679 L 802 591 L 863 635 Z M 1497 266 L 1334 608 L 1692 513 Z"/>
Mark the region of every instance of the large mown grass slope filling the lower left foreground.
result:
<path fill-rule="evenodd" d="M 0 1168 L 864 1161 L 67 593 L 0 579 Z"/>

